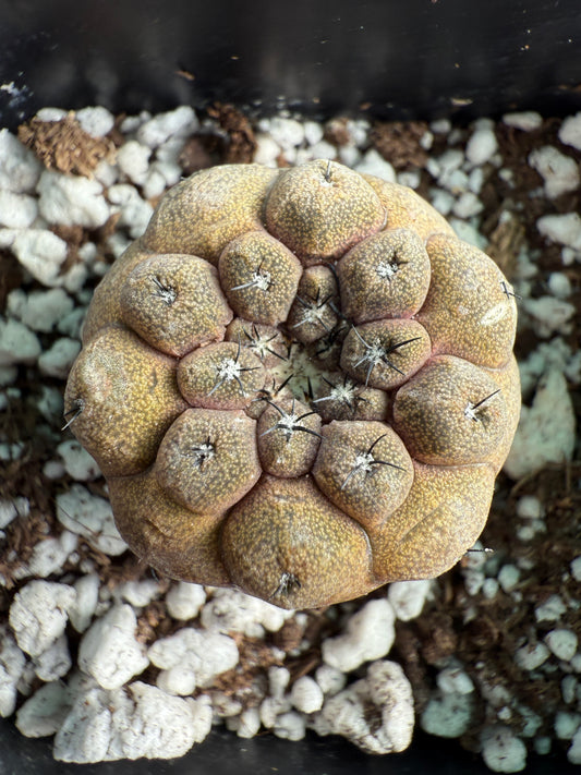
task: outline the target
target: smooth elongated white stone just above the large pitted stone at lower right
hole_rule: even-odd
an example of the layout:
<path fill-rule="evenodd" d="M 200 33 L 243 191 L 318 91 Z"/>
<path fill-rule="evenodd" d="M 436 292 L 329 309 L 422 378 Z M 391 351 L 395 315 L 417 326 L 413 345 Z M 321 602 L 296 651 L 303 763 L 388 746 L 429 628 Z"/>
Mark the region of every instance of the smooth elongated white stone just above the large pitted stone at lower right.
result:
<path fill-rule="evenodd" d="M 342 673 L 385 656 L 394 643 L 396 614 L 387 600 L 366 603 L 347 623 L 347 632 L 323 641 L 323 661 Z"/>

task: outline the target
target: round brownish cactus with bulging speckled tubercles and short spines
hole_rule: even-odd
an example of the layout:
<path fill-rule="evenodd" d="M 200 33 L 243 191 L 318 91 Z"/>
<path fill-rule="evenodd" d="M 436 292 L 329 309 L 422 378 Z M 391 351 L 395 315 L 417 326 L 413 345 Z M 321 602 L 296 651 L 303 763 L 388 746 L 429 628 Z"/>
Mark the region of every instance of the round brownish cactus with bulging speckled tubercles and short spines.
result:
<path fill-rule="evenodd" d="M 516 319 L 498 267 L 413 191 L 225 165 L 102 279 L 65 413 L 140 557 L 320 607 L 477 538 L 519 417 Z"/>

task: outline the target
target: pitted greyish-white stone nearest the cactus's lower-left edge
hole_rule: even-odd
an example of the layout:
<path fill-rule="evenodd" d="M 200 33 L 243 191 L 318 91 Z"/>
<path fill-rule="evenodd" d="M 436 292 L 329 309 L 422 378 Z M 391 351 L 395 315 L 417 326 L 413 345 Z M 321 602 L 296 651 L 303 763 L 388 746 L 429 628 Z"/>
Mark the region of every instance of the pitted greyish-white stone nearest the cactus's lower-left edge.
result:
<path fill-rule="evenodd" d="M 128 548 L 116 528 L 109 501 L 92 495 L 81 484 L 57 495 L 57 518 L 99 552 L 118 556 Z"/>

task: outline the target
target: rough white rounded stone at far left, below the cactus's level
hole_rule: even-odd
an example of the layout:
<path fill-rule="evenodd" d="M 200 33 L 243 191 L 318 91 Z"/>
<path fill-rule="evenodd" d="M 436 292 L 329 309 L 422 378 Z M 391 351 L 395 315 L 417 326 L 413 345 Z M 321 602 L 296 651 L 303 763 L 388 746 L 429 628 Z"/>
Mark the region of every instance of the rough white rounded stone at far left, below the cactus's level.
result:
<path fill-rule="evenodd" d="M 22 651 L 39 656 L 64 632 L 76 592 L 68 584 L 34 580 L 16 592 L 9 621 Z"/>

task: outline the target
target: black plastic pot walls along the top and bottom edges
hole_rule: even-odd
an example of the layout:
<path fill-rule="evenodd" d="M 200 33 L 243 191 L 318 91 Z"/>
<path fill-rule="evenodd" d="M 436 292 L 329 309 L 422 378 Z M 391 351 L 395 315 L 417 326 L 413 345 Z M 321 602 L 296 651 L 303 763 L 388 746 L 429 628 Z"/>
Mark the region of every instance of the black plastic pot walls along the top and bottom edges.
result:
<path fill-rule="evenodd" d="M 390 118 L 581 109 L 579 0 L 0 0 L 0 126 L 45 106 L 164 110 L 219 100 L 269 113 Z M 174 762 L 63 765 L 0 723 L 15 775 L 277 773 L 479 775 L 480 756 L 416 734 L 367 756 L 337 738 L 241 740 L 217 730 Z M 531 756 L 528 773 L 573 772 Z"/>

